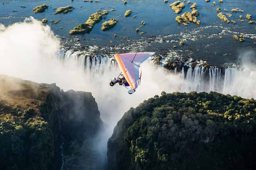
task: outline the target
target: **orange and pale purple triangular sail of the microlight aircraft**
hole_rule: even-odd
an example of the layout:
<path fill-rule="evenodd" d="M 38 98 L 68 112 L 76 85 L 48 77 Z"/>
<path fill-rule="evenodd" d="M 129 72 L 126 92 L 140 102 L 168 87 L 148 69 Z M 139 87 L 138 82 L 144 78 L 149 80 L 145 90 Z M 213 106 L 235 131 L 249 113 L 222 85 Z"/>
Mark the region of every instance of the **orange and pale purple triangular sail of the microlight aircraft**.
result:
<path fill-rule="evenodd" d="M 139 65 L 148 59 L 153 52 L 115 54 L 117 64 L 126 81 L 134 91 L 139 86 Z"/>

